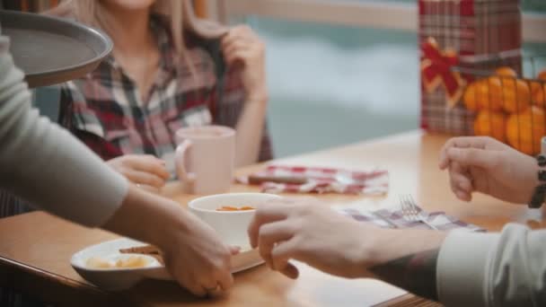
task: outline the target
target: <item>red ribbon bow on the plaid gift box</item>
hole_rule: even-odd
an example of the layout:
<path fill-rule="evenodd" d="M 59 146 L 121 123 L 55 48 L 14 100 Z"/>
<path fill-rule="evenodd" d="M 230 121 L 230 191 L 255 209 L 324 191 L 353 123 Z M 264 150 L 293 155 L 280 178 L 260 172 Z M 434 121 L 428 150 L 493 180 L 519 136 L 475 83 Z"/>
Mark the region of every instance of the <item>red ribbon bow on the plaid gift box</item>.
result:
<path fill-rule="evenodd" d="M 441 51 L 436 40 L 428 38 L 421 45 L 421 80 L 427 92 L 433 92 L 442 85 L 445 88 L 447 103 L 453 108 L 461 99 L 465 81 L 451 68 L 459 64 L 453 50 Z"/>

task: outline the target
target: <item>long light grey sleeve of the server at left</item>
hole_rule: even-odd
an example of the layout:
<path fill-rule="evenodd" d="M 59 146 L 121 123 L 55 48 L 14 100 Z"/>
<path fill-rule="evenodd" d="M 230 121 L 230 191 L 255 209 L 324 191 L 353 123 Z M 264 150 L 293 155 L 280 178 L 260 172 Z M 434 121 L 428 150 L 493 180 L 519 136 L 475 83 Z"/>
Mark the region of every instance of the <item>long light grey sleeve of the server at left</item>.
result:
<path fill-rule="evenodd" d="M 40 118 L 9 39 L 0 36 L 0 187 L 76 223 L 105 223 L 128 182 L 66 130 Z"/>

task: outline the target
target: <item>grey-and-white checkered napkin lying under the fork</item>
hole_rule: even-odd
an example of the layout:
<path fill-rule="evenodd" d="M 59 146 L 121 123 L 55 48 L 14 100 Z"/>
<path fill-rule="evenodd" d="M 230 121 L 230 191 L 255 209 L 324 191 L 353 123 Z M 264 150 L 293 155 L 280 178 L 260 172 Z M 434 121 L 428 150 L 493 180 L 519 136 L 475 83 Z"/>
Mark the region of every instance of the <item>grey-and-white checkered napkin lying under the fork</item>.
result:
<path fill-rule="evenodd" d="M 348 215 L 354 218 L 357 221 L 362 222 L 372 222 L 381 227 L 391 227 L 390 224 L 387 224 L 383 221 L 382 218 L 374 215 L 370 209 L 360 208 L 360 207 L 336 207 L 336 211 L 340 214 Z M 418 211 L 423 211 L 418 207 Z M 429 229 L 428 226 L 421 222 L 409 222 L 406 221 L 402 214 L 400 208 L 395 209 L 380 209 L 374 210 L 374 213 L 381 215 L 383 218 L 395 224 L 397 228 L 415 228 L 415 229 Z M 454 216 L 446 215 L 445 212 L 432 212 L 427 215 L 427 222 L 435 225 L 439 230 L 449 231 L 453 229 L 465 229 L 469 232 L 485 232 L 486 230 L 474 225 L 464 223 L 461 220 L 455 218 Z"/>

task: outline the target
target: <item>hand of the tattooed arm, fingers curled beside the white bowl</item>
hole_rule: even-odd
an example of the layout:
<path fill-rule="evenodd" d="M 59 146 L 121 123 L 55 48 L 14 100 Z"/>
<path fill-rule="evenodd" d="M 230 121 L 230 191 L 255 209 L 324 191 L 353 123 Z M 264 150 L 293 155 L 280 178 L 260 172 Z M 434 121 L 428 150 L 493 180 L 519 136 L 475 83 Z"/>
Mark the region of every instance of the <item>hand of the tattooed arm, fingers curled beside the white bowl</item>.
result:
<path fill-rule="evenodd" d="M 260 255 L 269 268 L 296 278 L 297 268 L 289 259 L 303 261 L 336 276 L 365 276 L 365 263 L 370 260 L 365 235 L 368 228 L 339 215 L 316 200 L 276 200 L 260 208 L 249 226 L 251 246 L 260 248 Z"/>

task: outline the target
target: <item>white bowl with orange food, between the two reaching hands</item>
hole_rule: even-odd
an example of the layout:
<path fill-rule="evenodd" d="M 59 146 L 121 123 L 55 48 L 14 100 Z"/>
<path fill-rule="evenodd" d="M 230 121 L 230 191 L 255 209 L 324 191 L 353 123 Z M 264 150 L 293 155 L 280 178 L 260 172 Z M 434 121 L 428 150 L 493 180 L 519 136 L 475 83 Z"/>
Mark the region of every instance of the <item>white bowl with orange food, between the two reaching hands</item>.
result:
<path fill-rule="evenodd" d="M 189 211 L 197 215 L 218 232 L 225 244 L 250 249 L 247 233 L 256 210 L 216 211 L 222 206 L 268 206 L 268 201 L 280 199 L 278 195 L 265 193 L 230 193 L 199 197 L 189 202 Z"/>

